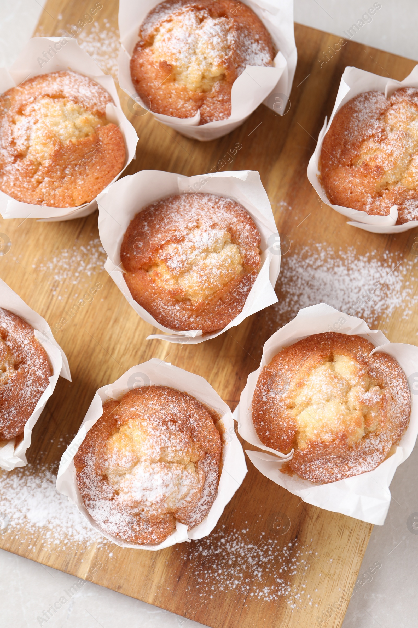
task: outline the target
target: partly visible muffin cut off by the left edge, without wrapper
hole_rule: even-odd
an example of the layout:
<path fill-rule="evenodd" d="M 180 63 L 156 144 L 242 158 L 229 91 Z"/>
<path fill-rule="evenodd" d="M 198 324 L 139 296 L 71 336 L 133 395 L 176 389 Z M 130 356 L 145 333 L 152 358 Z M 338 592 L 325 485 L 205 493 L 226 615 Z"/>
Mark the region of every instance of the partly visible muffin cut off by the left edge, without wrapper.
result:
<path fill-rule="evenodd" d="M 0 308 L 0 441 L 23 434 L 51 375 L 33 327 Z"/>

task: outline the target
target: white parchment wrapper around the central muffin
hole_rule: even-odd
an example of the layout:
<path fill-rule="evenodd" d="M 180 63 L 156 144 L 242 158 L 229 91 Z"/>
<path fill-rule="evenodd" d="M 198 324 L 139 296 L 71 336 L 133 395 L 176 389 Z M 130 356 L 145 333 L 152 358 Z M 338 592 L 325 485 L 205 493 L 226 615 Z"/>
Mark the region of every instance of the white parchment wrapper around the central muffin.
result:
<path fill-rule="evenodd" d="M 120 262 L 120 246 L 130 221 L 160 198 L 183 192 L 204 192 L 220 197 L 233 198 L 241 203 L 254 220 L 261 235 L 261 270 L 249 292 L 243 310 L 238 317 L 219 332 L 202 335 L 201 330 L 177 332 L 160 325 L 147 310 L 133 300 L 123 277 Z M 239 325 L 244 318 L 277 302 L 274 285 L 280 272 L 280 249 L 276 247 L 279 234 L 266 191 L 261 185 L 258 172 L 239 170 L 217 172 L 214 175 L 183 176 L 160 170 L 141 170 L 135 175 L 124 176 L 97 197 L 99 207 L 98 228 L 103 248 L 107 252 L 105 269 L 133 309 L 150 325 L 170 335 L 151 335 L 169 342 L 197 344 Z M 271 246 L 275 240 L 276 244 Z M 268 244 L 269 242 L 269 244 Z"/>

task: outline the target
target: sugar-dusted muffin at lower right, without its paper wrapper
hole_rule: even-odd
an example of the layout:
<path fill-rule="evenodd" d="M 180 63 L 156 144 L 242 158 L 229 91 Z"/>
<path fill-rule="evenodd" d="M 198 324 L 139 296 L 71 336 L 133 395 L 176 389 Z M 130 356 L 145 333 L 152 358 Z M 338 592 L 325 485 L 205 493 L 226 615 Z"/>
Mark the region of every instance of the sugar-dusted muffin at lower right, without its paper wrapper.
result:
<path fill-rule="evenodd" d="M 337 482 L 374 470 L 410 415 L 404 371 L 360 336 L 327 332 L 282 349 L 261 371 L 251 407 L 267 447 L 295 450 L 289 472 Z"/>

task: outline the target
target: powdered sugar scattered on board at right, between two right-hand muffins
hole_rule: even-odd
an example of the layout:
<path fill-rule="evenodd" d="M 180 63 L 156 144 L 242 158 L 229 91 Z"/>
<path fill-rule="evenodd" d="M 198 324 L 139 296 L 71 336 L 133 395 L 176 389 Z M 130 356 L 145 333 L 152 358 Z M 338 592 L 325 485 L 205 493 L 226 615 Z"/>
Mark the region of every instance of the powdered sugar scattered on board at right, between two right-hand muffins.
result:
<path fill-rule="evenodd" d="M 281 261 L 276 284 L 279 302 L 272 306 L 277 322 L 284 325 L 301 308 L 328 303 L 337 310 L 363 318 L 377 325 L 399 310 L 400 318 L 409 318 L 418 304 L 418 276 L 406 275 L 418 270 L 418 257 L 406 259 L 385 252 L 382 256 L 358 252 L 350 247 L 335 251 L 327 244 L 296 249 Z"/>

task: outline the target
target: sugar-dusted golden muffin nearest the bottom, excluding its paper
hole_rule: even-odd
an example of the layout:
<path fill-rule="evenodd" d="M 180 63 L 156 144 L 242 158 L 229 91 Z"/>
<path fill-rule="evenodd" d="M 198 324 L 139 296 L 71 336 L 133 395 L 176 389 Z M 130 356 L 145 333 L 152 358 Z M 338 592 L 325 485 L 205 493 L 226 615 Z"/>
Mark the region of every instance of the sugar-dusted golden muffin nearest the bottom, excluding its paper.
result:
<path fill-rule="evenodd" d="M 126 543 L 159 544 L 176 521 L 199 525 L 219 481 L 215 420 L 197 399 L 166 386 L 105 402 L 74 457 L 81 497 L 98 526 Z"/>

